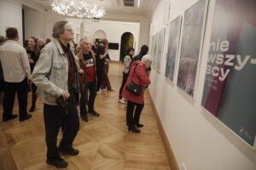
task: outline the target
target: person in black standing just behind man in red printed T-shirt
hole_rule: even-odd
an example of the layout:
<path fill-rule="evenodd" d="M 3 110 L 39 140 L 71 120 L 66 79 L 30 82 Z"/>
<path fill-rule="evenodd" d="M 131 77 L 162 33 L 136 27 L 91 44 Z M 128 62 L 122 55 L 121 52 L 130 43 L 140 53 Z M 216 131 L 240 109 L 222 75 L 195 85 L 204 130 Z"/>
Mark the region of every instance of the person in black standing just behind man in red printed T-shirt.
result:
<path fill-rule="evenodd" d="M 102 86 L 105 59 L 108 55 L 108 48 L 106 46 L 108 46 L 108 40 L 102 39 L 100 46 L 96 49 L 97 94 L 102 94 L 100 88 Z"/>

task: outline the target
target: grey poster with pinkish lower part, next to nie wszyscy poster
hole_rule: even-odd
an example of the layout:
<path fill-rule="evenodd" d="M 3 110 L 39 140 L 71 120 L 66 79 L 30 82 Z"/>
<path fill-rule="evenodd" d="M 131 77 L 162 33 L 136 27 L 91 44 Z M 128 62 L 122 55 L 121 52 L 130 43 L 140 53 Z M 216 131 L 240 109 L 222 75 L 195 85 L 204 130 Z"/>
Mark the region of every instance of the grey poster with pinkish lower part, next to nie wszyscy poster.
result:
<path fill-rule="evenodd" d="M 197 66 L 201 57 L 207 4 L 207 0 L 200 0 L 184 14 L 177 86 L 191 97 L 194 96 Z"/>

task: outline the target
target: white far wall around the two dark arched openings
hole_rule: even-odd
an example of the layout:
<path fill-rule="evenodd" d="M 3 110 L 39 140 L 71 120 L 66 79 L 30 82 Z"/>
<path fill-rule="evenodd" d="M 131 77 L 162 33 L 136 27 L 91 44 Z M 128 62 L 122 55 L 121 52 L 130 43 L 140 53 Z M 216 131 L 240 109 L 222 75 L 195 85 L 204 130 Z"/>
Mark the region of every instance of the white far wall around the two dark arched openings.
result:
<path fill-rule="evenodd" d="M 96 31 L 105 31 L 108 42 L 119 43 L 119 49 L 110 49 L 109 56 L 112 60 L 119 61 L 121 37 L 125 32 L 131 32 L 134 36 L 134 48 L 136 52 L 139 52 L 138 41 L 140 24 L 135 22 L 119 22 L 110 20 L 100 20 L 99 22 L 93 23 L 90 29 L 90 42 L 93 42 L 93 37 Z"/>

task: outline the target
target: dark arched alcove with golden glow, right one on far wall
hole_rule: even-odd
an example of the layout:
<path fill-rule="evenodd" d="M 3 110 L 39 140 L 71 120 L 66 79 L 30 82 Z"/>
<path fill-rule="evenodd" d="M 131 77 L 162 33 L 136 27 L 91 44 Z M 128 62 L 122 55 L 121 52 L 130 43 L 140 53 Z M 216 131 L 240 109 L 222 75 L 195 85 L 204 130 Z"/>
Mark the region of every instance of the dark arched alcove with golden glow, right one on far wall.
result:
<path fill-rule="evenodd" d="M 121 37 L 120 61 L 124 61 L 128 48 L 133 48 L 134 36 L 131 32 L 123 33 Z"/>

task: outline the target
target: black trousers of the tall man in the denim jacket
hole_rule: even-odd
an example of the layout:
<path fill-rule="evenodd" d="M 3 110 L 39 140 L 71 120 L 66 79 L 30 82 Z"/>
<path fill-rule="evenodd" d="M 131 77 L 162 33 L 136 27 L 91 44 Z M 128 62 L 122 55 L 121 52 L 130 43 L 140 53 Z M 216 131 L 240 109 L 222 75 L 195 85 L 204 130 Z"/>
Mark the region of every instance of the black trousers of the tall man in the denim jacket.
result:
<path fill-rule="evenodd" d="M 73 109 L 67 115 L 61 112 L 57 105 L 44 104 L 45 140 L 47 158 L 49 159 L 60 157 L 56 143 L 61 126 L 63 126 L 62 139 L 59 145 L 61 150 L 70 149 L 73 145 L 73 140 L 79 132 L 79 115 L 73 90 L 69 90 L 69 94 L 73 103 Z"/>

